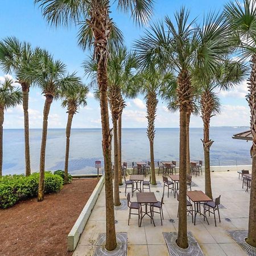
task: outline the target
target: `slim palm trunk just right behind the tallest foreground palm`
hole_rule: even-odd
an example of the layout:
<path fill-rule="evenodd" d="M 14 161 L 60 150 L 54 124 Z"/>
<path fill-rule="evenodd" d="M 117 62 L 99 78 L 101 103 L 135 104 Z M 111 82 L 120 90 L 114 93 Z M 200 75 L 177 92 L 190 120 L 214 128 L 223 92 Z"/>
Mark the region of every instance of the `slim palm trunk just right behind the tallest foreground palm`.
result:
<path fill-rule="evenodd" d="M 113 119 L 114 134 L 114 205 L 121 205 L 119 197 L 119 172 L 118 172 L 118 130 L 117 119 Z"/>

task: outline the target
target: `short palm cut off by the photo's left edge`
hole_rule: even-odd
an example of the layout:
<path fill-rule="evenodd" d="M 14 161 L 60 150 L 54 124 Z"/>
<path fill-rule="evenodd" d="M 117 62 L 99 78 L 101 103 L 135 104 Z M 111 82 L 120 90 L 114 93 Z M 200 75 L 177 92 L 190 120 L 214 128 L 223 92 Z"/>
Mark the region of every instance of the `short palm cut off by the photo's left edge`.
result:
<path fill-rule="evenodd" d="M 3 168 L 3 119 L 4 112 L 8 108 L 14 108 L 22 102 L 22 92 L 15 89 L 14 81 L 5 77 L 5 81 L 0 84 L 0 177 Z"/>

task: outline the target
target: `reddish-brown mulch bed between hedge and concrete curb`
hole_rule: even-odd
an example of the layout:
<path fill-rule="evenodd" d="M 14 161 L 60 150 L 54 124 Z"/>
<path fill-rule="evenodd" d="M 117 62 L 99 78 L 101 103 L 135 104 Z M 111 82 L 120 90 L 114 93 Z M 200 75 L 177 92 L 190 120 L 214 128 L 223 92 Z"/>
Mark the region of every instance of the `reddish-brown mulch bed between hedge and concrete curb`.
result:
<path fill-rule="evenodd" d="M 0 255 L 72 255 L 67 236 L 97 179 L 75 179 L 59 193 L 0 209 Z"/>

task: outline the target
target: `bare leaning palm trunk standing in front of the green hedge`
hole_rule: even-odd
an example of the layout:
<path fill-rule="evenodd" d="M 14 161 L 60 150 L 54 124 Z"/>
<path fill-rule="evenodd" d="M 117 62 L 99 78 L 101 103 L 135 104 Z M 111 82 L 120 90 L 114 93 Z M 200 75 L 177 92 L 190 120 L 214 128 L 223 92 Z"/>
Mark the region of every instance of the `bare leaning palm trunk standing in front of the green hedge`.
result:
<path fill-rule="evenodd" d="M 48 115 L 51 108 L 53 97 L 46 96 L 44 102 L 44 116 L 43 116 L 43 131 L 42 131 L 42 144 L 40 152 L 40 176 L 39 176 L 39 187 L 38 187 L 38 201 L 44 200 L 44 166 L 46 164 L 46 139 L 47 139 L 47 126 L 48 126 Z"/>

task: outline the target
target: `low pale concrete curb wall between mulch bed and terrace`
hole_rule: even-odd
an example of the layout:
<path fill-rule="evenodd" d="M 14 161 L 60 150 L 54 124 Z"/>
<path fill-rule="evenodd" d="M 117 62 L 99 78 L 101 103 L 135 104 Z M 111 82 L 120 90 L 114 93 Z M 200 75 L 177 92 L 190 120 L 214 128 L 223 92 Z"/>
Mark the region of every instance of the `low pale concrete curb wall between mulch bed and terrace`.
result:
<path fill-rule="evenodd" d="M 92 195 L 90 195 L 89 200 L 85 204 L 84 209 L 80 213 L 79 217 L 76 220 L 75 225 L 71 229 L 71 232 L 68 234 L 68 250 L 73 251 L 76 249 L 77 243 L 79 242 L 80 236 L 84 231 L 86 222 L 90 217 L 90 213 L 92 213 L 93 207 L 96 204 L 98 196 L 100 195 L 101 189 L 105 183 L 105 177 L 102 176 L 98 181 L 97 186 L 94 188 Z"/>

